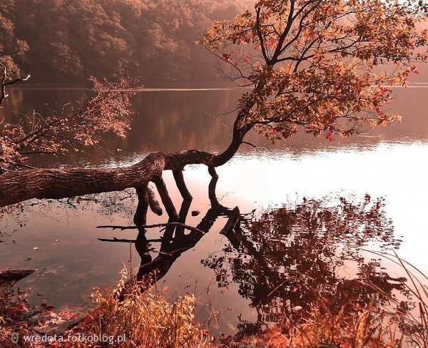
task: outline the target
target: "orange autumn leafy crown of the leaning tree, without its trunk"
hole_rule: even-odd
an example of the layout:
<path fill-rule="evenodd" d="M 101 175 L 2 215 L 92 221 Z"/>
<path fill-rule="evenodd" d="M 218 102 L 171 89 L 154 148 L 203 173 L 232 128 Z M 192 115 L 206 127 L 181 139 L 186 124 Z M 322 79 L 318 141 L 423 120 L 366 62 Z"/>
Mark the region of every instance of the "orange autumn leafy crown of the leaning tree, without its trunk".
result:
<path fill-rule="evenodd" d="M 302 128 L 332 141 L 399 121 L 385 106 L 391 86 L 406 86 L 427 59 L 424 19 L 421 1 L 263 0 L 216 22 L 201 43 L 253 88 L 240 99 L 241 128 L 272 140 Z"/>

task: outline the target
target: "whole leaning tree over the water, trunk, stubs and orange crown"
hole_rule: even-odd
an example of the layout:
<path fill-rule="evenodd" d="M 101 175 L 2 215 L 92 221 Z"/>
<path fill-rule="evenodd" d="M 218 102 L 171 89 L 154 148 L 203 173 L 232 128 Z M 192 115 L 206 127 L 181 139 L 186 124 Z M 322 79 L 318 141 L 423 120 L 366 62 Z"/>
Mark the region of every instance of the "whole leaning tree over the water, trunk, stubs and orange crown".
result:
<path fill-rule="evenodd" d="M 114 169 L 31 169 L 1 175 L 0 206 L 30 198 L 64 198 L 136 188 L 137 224 L 146 222 L 156 184 L 170 218 L 178 214 L 162 174 L 172 170 L 190 199 L 183 168 L 207 165 L 210 175 L 235 155 L 255 129 L 272 140 L 297 131 L 349 136 L 399 120 L 385 104 L 391 86 L 406 85 L 414 65 L 427 58 L 423 1 L 261 0 L 255 11 L 216 22 L 200 43 L 220 58 L 223 71 L 243 87 L 232 140 L 223 153 L 185 150 L 152 153 Z M 158 211 L 158 210 L 156 210 Z"/>

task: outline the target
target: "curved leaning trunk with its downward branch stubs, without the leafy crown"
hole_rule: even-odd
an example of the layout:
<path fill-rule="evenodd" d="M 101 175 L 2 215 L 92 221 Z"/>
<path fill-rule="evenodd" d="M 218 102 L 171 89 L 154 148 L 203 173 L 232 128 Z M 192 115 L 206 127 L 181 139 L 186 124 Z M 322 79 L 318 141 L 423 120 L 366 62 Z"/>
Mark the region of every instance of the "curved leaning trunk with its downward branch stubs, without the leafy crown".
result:
<path fill-rule="evenodd" d="M 185 187 L 182 170 L 185 165 L 203 164 L 209 168 L 213 177 L 215 167 L 230 160 L 243 143 L 243 138 L 252 125 L 243 125 L 256 101 L 260 86 L 255 88 L 247 102 L 243 105 L 233 126 L 232 140 L 228 148 L 218 155 L 198 150 L 185 150 L 179 153 L 151 153 L 141 162 L 125 168 L 112 169 L 34 169 L 21 170 L 0 175 L 0 207 L 19 203 L 31 198 L 69 198 L 78 195 L 120 191 L 136 188 L 138 207 L 134 217 L 136 225 L 146 224 L 148 206 L 159 214 L 158 205 L 153 195 L 148 193 L 148 183 L 156 184 L 159 195 L 168 216 L 178 218 L 172 201 L 163 183 L 163 170 L 172 170 L 175 183 L 184 200 L 191 195 Z"/>

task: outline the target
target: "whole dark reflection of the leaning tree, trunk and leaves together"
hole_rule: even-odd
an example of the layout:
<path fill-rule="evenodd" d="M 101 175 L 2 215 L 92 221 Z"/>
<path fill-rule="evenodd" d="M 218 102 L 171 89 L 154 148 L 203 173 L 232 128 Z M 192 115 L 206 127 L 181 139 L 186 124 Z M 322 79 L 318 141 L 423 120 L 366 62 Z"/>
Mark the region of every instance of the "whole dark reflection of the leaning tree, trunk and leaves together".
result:
<path fill-rule="evenodd" d="M 211 207 L 196 226 L 203 232 L 209 232 L 220 216 L 230 217 L 234 212 L 215 197 L 217 180 L 213 178 L 209 186 Z M 189 208 L 190 201 L 184 200 L 178 222 L 185 223 Z M 170 225 L 160 240 L 148 240 L 146 230 L 139 228 L 134 241 L 141 256 L 136 279 L 144 288 L 150 287 L 202 237 L 202 232 Z M 386 304 L 389 296 L 409 297 L 405 278 L 391 277 L 378 259 L 362 250 L 400 245 L 382 198 L 304 199 L 292 208 L 257 217 L 240 214 L 239 223 L 225 237 L 228 243 L 223 250 L 202 262 L 215 271 L 220 287 L 237 283 L 240 295 L 257 310 L 256 322 L 238 324 L 240 334 L 308 314 L 321 298 L 333 312 L 344 307 L 346 314 L 357 314 L 358 305 L 366 305 L 372 297 L 379 304 Z M 153 241 L 161 242 L 154 258 Z M 295 312 L 297 306 L 302 309 Z"/>

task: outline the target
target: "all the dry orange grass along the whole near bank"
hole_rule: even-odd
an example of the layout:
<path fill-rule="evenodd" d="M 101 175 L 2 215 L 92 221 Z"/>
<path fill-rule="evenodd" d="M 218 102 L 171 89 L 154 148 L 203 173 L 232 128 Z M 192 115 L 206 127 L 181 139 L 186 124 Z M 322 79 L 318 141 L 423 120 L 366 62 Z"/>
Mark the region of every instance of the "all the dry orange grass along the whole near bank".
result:
<path fill-rule="evenodd" d="M 428 278 L 397 255 L 382 254 L 382 257 L 396 262 L 406 273 L 413 306 L 403 307 L 402 302 L 371 285 L 377 295 L 388 298 L 389 306 L 379 305 L 372 297 L 365 307 L 355 305 L 352 314 L 343 309 L 333 314 L 325 300 L 320 299 L 309 314 L 287 320 L 258 337 L 245 337 L 240 342 L 229 337 L 213 344 L 208 324 L 195 317 L 198 301 L 193 295 L 186 293 L 171 301 L 162 291 L 141 292 L 138 282 L 131 281 L 125 286 L 128 275 L 123 271 L 115 289 L 96 290 L 90 314 L 66 334 L 125 335 L 126 342 L 109 347 L 248 347 L 250 344 L 295 348 L 428 347 Z M 117 300 L 119 295 L 123 301 Z M 10 297 L 1 300 L 0 347 L 16 347 L 11 343 L 11 332 L 29 334 L 31 329 L 21 317 L 10 315 L 8 305 L 9 309 L 14 308 L 19 302 L 6 305 Z M 25 316 L 25 311 L 21 314 Z M 85 342 L 60 347 L 99 347 L 99 344 Z"/>

